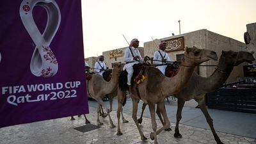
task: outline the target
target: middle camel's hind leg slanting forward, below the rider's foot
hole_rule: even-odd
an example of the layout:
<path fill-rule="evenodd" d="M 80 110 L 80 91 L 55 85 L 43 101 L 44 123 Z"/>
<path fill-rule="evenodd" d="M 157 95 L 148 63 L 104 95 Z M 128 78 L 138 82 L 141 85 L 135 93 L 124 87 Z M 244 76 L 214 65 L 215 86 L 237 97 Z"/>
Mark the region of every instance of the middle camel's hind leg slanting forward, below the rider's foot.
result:
<path fill-rule="evenodd" d="M 137 111 L 138 111 L 138 99 L 132 98 L 132 119 L 134 120 L 138 131 L 140 132 L 141 140 L 145 141 L 147 138 L 144 136 L 143 132 L 141 131 L 140 125 L 138 124 L 137 120 Z"/>

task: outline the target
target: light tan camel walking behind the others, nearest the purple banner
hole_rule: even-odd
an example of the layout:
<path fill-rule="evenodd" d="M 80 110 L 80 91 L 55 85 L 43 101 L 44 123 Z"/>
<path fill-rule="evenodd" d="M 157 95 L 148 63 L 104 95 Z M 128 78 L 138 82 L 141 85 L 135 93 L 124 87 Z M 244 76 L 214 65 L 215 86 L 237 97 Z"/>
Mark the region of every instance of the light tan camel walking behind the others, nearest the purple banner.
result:
<path fill-rule="evenodd" d="M 105 95 L 109 94 L 109 106 L 110 109 L 106 109 L 106 112 L 109 116 L 109 124 L 111 128 L 114 128 L 115 125 L 113 124 L 113 121 L 110 116 L 110 112 L 112 111 L 112 103 L 113 103 L 113 97 L 115 97 L 117 85 L 118 85 L 118 77 L 120 73 L 122 72 L 124 67 L 124 64 L 121 63 L 114 63 L 113 64 L 113 74 L 109 82 L 105 81 L 102 76 L 99 74 L 94 74 L 92 76 L 92 79 L 88 81 L 88 94 L 98 102 L 98 108 L 97 108 L 97 125 L 102 125 L 103 123 L 100 122 L 99 119 L 99 113 L 100 113 L 100 105 L 103 108 L 106 108 L 104 106 L 103 98 Z M 123 118 L 123 120 L 125 120 Z M 125 120 L 127 121 L 127 120 Z M 127 121 L 128 122 L 128 121 Z"/>

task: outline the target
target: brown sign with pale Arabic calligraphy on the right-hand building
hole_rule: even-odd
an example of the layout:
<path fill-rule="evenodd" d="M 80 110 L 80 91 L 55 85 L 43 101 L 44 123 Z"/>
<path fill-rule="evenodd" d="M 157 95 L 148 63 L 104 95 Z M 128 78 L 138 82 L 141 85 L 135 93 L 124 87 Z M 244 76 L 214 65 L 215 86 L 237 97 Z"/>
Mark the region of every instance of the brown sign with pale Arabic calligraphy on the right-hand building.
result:
<path fill-rule="evenodd" d="M 164 40 L 166 42 L 166 52 L 183 51 L 184 50 L 184 37 L 173 38 Z"/>

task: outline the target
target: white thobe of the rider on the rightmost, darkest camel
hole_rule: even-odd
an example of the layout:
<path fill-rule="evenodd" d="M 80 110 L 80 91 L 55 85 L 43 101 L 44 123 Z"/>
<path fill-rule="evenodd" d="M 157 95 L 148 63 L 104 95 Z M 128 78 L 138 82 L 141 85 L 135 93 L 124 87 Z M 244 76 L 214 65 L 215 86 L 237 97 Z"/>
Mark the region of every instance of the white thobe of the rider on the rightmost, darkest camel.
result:
<path fill-rule="evenodd" d="M 155 52 L 154 54 L 154 59 L 153 60 L 159 60 L 159 61 L 153 61 L 154 65 L 159 65 L 157 66 L 156 68 L 158 68 L 163 74 L 165 74 L 165 68 L 167 67 L 167 65 L 161 65 L 161 64 L 166 64 L 162 61 L 162 57 L 161 57 L 161 54 L 159 54 L 159 52 L 161 52 L 163 58 L 166 60 L 166 61 L 171 61 L 168 54 L 164 51 L 162 51 L 161 49 L 159 49 L 158 51 Z M 170 63 L 170 62 L 169 62 Z"/>

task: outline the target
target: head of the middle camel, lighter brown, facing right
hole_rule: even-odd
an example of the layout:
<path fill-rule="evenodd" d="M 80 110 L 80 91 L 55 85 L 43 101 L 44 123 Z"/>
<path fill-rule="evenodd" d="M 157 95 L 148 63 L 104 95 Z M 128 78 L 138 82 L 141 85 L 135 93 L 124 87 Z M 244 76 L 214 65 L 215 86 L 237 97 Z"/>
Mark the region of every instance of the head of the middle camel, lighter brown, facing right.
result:
<path fill-rule="evenodd" d="M 218 60 L 216 52 L 209 49 L 198 49 L 197 47 L 185 47 L 184 59 L 189 61 L 191 65 L 200 65 L 205 61 Z"/>

